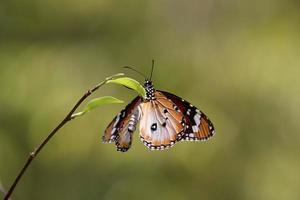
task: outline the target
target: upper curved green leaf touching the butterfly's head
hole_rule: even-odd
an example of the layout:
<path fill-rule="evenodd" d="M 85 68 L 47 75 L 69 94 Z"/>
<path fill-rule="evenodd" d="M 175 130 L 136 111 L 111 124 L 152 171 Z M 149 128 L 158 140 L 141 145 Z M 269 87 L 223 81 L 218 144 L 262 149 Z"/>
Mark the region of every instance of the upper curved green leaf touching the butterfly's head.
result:
<path fill-rule="evenodd" d="M 136 80 L 128 77 L 121 77 L 107 81 L 107 83 L 116 83 L 135 90 L 140 96 L 145 98 L 146 91 L 144 87 Z"/>

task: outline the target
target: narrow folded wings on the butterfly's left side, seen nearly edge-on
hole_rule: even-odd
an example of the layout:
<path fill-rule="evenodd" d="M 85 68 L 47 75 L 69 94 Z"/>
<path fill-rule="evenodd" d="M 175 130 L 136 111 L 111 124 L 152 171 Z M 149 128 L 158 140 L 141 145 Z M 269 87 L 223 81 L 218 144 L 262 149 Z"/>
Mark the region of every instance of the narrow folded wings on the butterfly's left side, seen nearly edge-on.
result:
<path fill-rule="evenodd" d="M 123 109 L 105 129 L 104 143 L 115 142 L 118 151 L 127 151 L 132 143 L 132 134 L 140 118 L 139 104 L 141 98 L 136 97 Z"/>

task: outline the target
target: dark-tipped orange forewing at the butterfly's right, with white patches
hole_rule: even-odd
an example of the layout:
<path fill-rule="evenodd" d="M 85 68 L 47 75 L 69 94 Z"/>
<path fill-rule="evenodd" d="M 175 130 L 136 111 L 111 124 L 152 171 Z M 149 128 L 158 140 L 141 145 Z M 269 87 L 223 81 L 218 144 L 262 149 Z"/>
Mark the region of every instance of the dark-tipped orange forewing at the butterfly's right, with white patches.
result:
<path fill-rule="evenodd" d="M 184 115 L 185 130 L 183 139 L 191 141 L 207 140 L 214 135 L 214 126 L 203 112 L 174 94 L 160 92 L 171 100 Z M 157 100 L 159 101 L 160 98 Z"/>

